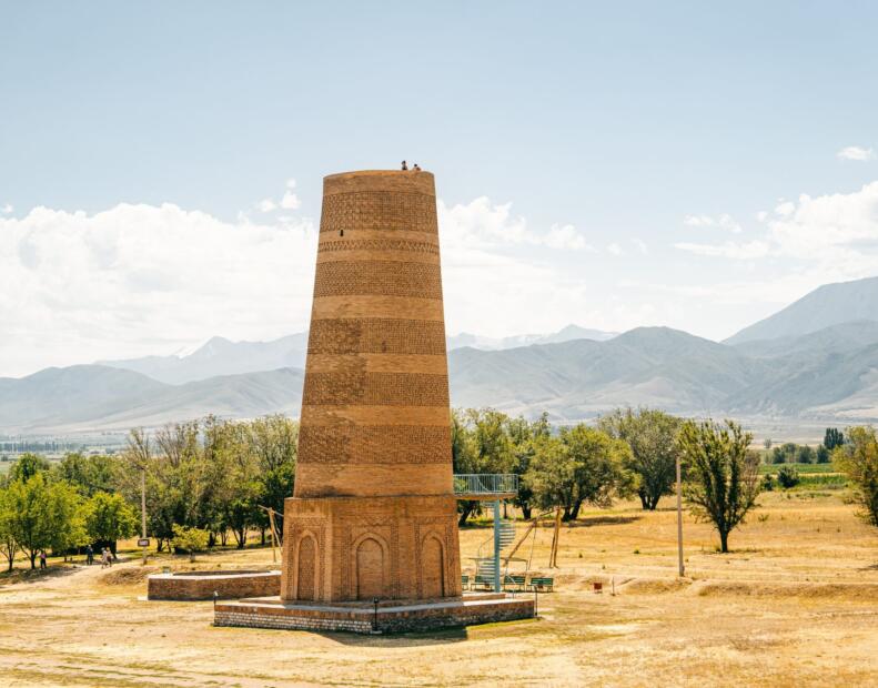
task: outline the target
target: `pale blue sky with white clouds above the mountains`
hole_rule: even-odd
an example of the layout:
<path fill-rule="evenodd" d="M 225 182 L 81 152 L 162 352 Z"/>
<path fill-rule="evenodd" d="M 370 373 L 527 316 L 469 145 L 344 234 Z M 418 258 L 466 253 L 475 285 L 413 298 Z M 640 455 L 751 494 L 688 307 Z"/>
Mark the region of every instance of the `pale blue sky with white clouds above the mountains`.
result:
<path fill-rule="evenodd" d="M 436 175 L 446 330 L 713 340 L 878 275 L 878 4 L 0 0 L 0 376 L 307 327 Z"/>

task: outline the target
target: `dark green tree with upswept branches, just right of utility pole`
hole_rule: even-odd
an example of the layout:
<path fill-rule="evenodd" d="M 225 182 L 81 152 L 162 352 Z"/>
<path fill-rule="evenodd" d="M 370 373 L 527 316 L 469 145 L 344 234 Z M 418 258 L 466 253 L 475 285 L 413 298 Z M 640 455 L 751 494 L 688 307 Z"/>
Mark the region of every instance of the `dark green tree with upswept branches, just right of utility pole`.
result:
<path fill-rule="evenodd" d="M 753 435 L 734 421 L 725 426 L 686 421 L 679 451 L 687 467 L 686 499 L 696 518 L 710 520 L 719 533 L 719 548 L 728 552 L 728 535 L 759 495 L 759 457 L 749 451 Z"/>

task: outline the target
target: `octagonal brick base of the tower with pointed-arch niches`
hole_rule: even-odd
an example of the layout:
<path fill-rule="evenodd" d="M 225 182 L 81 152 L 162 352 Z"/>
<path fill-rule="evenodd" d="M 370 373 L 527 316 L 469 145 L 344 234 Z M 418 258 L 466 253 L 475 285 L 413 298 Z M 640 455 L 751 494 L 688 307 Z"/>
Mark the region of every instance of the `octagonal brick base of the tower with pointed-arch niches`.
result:
<path fill-rule="evenodd" d="M 291 497 L 283 533 L 286 603 L 461 595 L 453 495 Z"/>

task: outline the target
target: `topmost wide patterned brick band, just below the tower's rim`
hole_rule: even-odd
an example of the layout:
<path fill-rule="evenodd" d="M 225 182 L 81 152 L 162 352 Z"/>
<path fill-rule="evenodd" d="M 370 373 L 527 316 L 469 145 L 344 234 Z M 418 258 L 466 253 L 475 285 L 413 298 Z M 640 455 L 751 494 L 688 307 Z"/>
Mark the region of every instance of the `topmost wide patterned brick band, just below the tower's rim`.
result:
<path fill-rule="evenodd" d="M 437 232 L 436 200 L 423 193 L 355 191 L 324 194 L 320 231 L 406 230 Z"/>

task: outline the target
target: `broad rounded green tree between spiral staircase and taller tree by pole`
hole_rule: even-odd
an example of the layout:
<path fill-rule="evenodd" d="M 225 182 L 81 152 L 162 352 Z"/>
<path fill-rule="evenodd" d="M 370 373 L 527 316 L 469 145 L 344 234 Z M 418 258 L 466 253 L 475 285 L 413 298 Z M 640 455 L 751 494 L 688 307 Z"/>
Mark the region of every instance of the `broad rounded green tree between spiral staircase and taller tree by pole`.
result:
<path fill-rule="evenodd" d="M 634 476 L 625 469 L 628 445 L 605 432 L 579 424 L 557 437 L 541 437 L 526 479 L 543 508 L 561 507 L 563 520 L 576 520 L 585 503 L 609 506 L 626 495 Z"/>

